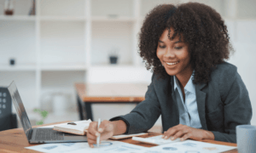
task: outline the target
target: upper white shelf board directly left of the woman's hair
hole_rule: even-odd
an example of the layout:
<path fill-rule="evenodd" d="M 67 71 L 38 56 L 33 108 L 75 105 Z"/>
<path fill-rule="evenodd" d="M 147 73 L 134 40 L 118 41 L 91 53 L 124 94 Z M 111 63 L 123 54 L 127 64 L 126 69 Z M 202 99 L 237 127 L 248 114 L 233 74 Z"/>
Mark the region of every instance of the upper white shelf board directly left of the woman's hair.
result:
<path fill-rule="evenodd" d="M 136 21 L 134 17 L 127 16 L 93 16 L 92 21 Z"/>

